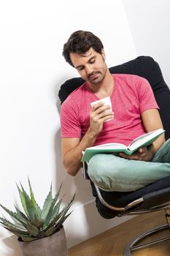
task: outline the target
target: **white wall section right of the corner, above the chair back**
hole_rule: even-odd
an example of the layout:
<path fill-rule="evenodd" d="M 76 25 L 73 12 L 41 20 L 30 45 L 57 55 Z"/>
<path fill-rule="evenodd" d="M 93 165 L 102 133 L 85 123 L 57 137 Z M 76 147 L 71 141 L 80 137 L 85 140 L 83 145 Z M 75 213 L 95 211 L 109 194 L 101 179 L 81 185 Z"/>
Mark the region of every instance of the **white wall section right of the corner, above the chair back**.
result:
<path fill-rule="evenodd" d="M 170 86 L 170 1 L 123 0 L 137 55 L 152 56 Z"/>

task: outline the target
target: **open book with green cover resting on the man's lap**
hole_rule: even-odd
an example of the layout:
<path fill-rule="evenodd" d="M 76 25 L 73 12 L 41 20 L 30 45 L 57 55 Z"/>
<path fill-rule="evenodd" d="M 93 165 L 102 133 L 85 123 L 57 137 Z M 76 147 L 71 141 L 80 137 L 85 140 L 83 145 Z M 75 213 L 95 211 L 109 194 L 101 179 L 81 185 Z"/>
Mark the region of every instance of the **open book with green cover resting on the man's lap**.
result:
<path fill-rule="evenodd" d="M 155 141 L 163 132 L 165 132 L 164 129 L 156 129 L 155 131 L 147 132 L 146 134 L 134 139 L 128 146 L 121 143 L 107 143 L 86 148 L 85 151 L 82 151 L 82 162 L 88 162 L 95 154 L 112 154 L 114 152 L 123 152 L 131 155 L 141 146 L 150 146 L 150 144 L 152 144 L 153 141 Z"/>

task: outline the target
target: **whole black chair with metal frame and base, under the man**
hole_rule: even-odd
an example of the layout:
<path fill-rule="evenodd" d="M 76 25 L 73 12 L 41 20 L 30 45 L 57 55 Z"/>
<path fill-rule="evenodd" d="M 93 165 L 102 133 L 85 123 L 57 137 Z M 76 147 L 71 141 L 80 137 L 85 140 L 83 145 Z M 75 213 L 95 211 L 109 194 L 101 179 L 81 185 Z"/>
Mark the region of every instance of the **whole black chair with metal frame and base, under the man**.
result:
<path fill-rule="evenodd" d="M 146 78 L 155 94 L 155 99 L 160 108 L 163 127 L 166 129 L 166 140 L 170 138 L 170 91 L 163 80 L 163 75 L 158 63 L 150 56 L 139 56 L 116 67 L 110 67 L 111 73 L 133 74 Z M 66 80 L 61 86 L 58 96 L 63 101 L 69 94 L 84 83 L 82 78 L 72 78 Z M 88 178 L 88 165 L 85 164 L 82 169 L 83 176 Z M 134 192 L 104 192 L 90 181 L 93 196 L 96 197 L 96 207 L 101 217 L 111 219 L 115 216 L 145 214 L 152 211 L 164 209 L 167 225 L 157 227 L 147 233 L 134 238 L 125 248 L 124 255 L 130 256 L 131 252 L 141 249 L 150 244 L 157 244 L 166 241 L 170 236 L 150 241 L 149 243 L 139 244 L 143 238 L 157 233 L 161 230 L 170 228 L 170 176 L 162 178 L 153 184 L 147 185 Z M 114 202 L 114 204 L 113 204 Z M 139 245 L 138 245 L 139 244 Z"/>

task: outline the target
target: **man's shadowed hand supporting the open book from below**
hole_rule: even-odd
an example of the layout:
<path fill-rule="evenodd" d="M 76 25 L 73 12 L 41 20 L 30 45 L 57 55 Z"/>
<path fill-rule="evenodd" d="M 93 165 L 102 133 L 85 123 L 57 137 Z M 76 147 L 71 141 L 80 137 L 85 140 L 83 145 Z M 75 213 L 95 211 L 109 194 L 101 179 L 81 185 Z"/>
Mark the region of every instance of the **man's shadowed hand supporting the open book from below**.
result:
<path fill-rule="evenodd" d="M 128 156 L 127 154 L 124 153 L 119 153 L 118 155 L 129 160 L 149 162 L 154 155 L 153 145 L 150 145 L 148 147 L 140 147 L 137 151 L 134 152 L 134 154 L 131 154 L 131 156 Z"/>

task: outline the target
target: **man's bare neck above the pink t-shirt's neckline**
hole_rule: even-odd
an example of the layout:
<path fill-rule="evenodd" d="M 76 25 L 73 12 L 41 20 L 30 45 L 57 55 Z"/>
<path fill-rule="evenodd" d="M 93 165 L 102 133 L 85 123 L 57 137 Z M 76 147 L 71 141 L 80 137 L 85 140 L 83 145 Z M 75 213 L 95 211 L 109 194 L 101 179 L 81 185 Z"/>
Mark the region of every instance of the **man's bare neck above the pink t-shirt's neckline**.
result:
<path fill-rule="evenodd" d="M 112 74 L 110 74 L 109 69 L 107 70 L 106 76 L 101 83 L 96 85 L 89 84 L 89 88 L 93 91 L 94 94 L 100 99 L 104 97 L 108 97 L 112 94 L 113 87 L 114 87 L 114 80 Z"/>

